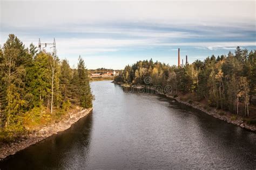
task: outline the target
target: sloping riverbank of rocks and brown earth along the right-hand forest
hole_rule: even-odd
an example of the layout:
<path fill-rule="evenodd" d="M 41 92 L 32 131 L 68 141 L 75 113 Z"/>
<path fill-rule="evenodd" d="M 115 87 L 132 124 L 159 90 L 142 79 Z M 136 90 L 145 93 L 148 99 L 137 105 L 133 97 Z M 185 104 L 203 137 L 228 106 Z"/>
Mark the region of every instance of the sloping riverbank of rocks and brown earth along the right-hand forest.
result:
<path fill-rule="evenodd" d="M 131 86 L 127 86 L 127 84 L 125 84 L 125 86 L 120 83 L 120 82 L 112 82 L 112 83 L 116 83 L 116 84 L 119 84 L 120 86 L 122 87 L 131 87 Z M 131 88 L 135 88 L 135 89 L 142 89 L 142 86 L 132 86 Z M 183 103 L 189 107 L 192 107 L 194 109 L 198 109 L 208 115 L 211 115 L 215 118 L 218 118 L 222 121 L 225 121 L 227 123 L 231 123 L 231 124 L 234 124 L 234 125 L 237 125 L 237 126 L 240 126 L 240 128 L 244 128 L 244 129 L 247 129 L 247 130 L 250 130 L 250 131 L 256 131 L 256 126 L 255 125 L 250 125 L 250 124 L 247 124 L 246 123 L 246 120 L 244 117 L 241 117 L 241 116 L 238 116 L 238 115 L 234 115 L 234 114 L 231 114 L 231 112 L 229 111 L 225 111 L 225 110 L 220 110 L 220 109 L 215 109 L 215 108 L 211 108 L 209 107 L 208 105 L 204 104 L 204 103 L 200 103 L 200 102 L 196 102 L 196 101 L 186 101 L 184 100 L 183 96 L 173 96 L 173 95 L 170 95 L 170 94 L 164 94 L 164 93 L 161 93 L 159 91 L 157 91 L 156 89 L 153 89 L 151 87 L 147 87 L 147 89 L 149 90 L 146 90 L 146 91 L 156 91 L 157 94 L 160 94 L 160 95 L 163 95 L 167 98 L 170 98 L 171 100 L 174 100 L 174 101 L 177 101 L 179 103 Z M 142 91 L 142 90 L 140 90 Z"/>

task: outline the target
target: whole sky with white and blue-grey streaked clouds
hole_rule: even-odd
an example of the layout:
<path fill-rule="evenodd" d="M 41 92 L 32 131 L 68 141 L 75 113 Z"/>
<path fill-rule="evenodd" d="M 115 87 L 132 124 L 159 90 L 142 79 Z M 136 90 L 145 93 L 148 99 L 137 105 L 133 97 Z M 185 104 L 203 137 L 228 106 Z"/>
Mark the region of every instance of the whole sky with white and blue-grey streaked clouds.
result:
<path fill-rule="evenodd" d="M 0 44 L 13 33 L 28 47 L 53 42 L 75 68 L 123 69 L 138 60 L 177 65 L 256 49 L 255 1 L 3 1 Z M 46 48 L 51 51 L 52 48 Z"/>

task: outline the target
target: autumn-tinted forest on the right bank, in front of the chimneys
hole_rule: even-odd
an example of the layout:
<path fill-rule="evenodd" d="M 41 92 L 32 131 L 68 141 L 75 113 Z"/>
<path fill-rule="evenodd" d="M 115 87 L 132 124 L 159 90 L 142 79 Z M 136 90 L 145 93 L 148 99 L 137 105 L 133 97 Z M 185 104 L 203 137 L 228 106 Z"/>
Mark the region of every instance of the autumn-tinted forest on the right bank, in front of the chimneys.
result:
<path fill-rule="evenodd" d="M 205 102 L 208 107 L 232 114 L 256 118 L 256 51 L 237 47 L 227 55 L 208 56 L 184 66 L 169 66 L 161 62 L 138 61 L 127 65 L 115 82 L 171 86 L 174 97 L 190 96 L 190 102 Z M 251 121 L 256 122 L 256 121 Z"/>

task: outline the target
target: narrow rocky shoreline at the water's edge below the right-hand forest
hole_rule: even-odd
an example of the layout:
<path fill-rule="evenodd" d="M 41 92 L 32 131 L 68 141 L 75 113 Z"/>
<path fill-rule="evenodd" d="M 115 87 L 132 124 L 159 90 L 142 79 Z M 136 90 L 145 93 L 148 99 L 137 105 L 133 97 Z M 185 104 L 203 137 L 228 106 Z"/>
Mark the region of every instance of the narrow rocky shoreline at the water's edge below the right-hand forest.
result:
<path fill-rule="evenodd" d="M 120 83 L 120 82 L 114 82 L 113 81 L 112 83 L 116 83 L 116 84 L 119 84 L 119 85 L 122 86 L 122 83 Z M 140 87 L 140 86 L 132 86 L 132 88 L 141 89 L 142 87 Z M 147 88 L 150 89 L 151 91 L 152 90 L 156 91 L 156 89 L 153 89 L 151 87 L 147 87 Z M 253 132 L 256 131 L 256 126 L 255 125 L 248 125 L 248 124 L 246 124 L 246 122 L 242 121 L 241 117 L 238 117 L 237 119 L 232 120 L 230 114 L 228 114 L 227 111 L 221 110 L 221 112 L 224 112 L 225 114 L 224 115 L 220 115 L 219 111 L 217 109 L 211 108 L 211 110 L 209 111 L 207 109 L 204 109 L 204 106 L 202 106 L 202 105 L 200 105 L 200 104 L 198 104 L 196 102 L 188 103 L 186 101 L 181 100 L 180 97 L 174 97 L 172 95 L 164 94 L 164 93 L 161 93 L 159 91 L 157 91 L 157 94 L 164 95 L 165 97 L 170 98 L 171 100 L 177 101 L 179 103 L 183 103 L 183 104 L 185 104 L 187 106 L 190 106 L 190 107 L 192 107 L 194 109 L 198 109 L 198 110 L 200 110 L 202 112 L 205 112 L 208 115 L 211 115 L 211 116 L 213 116 L 215 118 L 218 118 L 218 119 L 220 119 L 222 121 L 226 121 L 227 123 L 231 123 L 231 124 L 240 126 L 241 128 L 244 128 L 244 129 L 247 129 L 247 130 L 250 130 L 250 131 L 253 131 Z"/>

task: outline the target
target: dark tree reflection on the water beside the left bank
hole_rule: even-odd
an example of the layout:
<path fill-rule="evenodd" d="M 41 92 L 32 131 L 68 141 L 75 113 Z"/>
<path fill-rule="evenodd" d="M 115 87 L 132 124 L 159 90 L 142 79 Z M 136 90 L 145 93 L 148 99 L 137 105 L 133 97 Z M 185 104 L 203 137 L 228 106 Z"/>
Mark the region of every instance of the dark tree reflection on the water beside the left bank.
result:
<path fill-rule="evenodd" d="M 32 145 L 0 162 L 0 169 L 79 168 L 90 152 L 92 114 L 65 132 Z"/>

